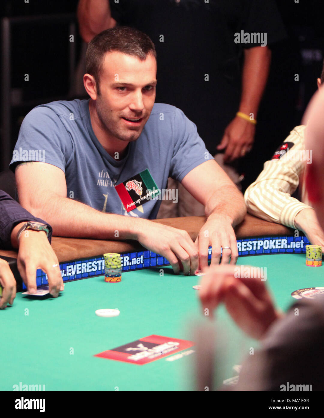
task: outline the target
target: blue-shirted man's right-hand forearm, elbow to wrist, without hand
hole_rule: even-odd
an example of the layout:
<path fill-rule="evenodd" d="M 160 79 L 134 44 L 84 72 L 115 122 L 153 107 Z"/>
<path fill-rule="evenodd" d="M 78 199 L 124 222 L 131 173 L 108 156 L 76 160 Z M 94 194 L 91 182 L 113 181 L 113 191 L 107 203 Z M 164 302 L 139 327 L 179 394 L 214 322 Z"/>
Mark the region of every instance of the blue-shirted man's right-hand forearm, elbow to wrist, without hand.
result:
<path fill-rule="evenodd" d="M 207 218 L 224 217 L 229 219 L 232 227 L 241 223 L 246 215 L 243 195 L 236 186 L 215 191 L 205 206 Z"/>

